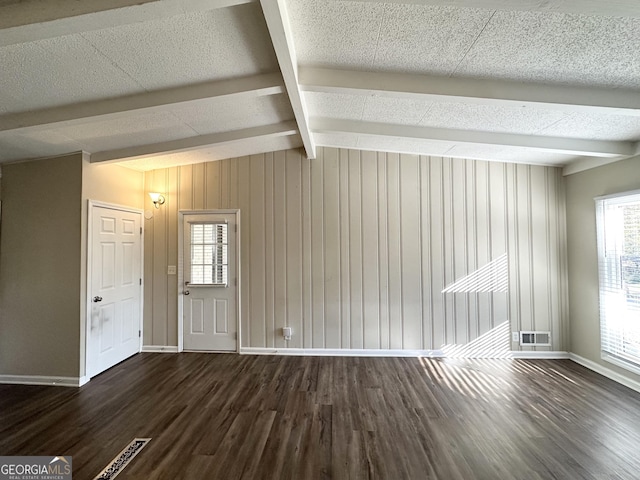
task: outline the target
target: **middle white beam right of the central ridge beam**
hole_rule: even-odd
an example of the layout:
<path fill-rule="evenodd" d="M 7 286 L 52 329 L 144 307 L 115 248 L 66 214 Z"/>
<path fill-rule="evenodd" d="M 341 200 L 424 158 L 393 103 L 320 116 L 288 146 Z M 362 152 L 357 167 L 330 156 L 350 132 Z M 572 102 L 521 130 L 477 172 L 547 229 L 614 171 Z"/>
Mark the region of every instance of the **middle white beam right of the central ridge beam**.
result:
<path fill-rule="evenodd" d="M 308 92 L 640 116 L 637 90 L 312 67 L 301 67 L 299 75 L 301 89 Z"/>

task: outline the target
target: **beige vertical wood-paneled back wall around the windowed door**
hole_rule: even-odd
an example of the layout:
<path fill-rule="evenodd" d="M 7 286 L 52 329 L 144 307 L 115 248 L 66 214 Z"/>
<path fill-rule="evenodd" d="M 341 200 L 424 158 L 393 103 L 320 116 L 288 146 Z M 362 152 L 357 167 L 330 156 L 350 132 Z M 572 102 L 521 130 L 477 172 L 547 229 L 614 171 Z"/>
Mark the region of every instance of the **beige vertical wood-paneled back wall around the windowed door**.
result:
<path fill-rule="evenodd" d="M 145 190 L 167 197 L 147 206 L 146 345 L 177 344 L 178 210 L 240 208 L 243 347 L 436 350 L 504 322 L 568 346 L 559 169 L 320 148 L 155 170 Z M 505 253 L 508 293 L 442 293 Z"/>

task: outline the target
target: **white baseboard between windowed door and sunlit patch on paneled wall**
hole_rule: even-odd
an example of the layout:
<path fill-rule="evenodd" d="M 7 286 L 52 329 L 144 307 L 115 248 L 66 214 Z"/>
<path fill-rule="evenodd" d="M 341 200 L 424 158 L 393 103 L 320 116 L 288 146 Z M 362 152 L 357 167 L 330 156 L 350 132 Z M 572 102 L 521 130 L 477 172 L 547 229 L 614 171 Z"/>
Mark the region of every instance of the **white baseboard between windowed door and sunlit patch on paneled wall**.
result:
<path fill-rule="evenodd" d="M 362 348 L 242 347 L 241 355 L 293 355 L 300 357 L 442 357 L 440 350 L 375 350 Z"/>

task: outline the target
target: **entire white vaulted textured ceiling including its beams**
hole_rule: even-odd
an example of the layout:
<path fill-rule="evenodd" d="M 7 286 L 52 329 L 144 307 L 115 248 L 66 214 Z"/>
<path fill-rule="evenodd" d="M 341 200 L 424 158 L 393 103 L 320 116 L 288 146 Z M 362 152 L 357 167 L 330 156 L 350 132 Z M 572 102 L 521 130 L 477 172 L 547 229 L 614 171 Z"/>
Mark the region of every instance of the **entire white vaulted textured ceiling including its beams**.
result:
<path fill-rule="evenodd" d="M 0 0 L 0 163 L 640 153 L 637 0 Z"/>

